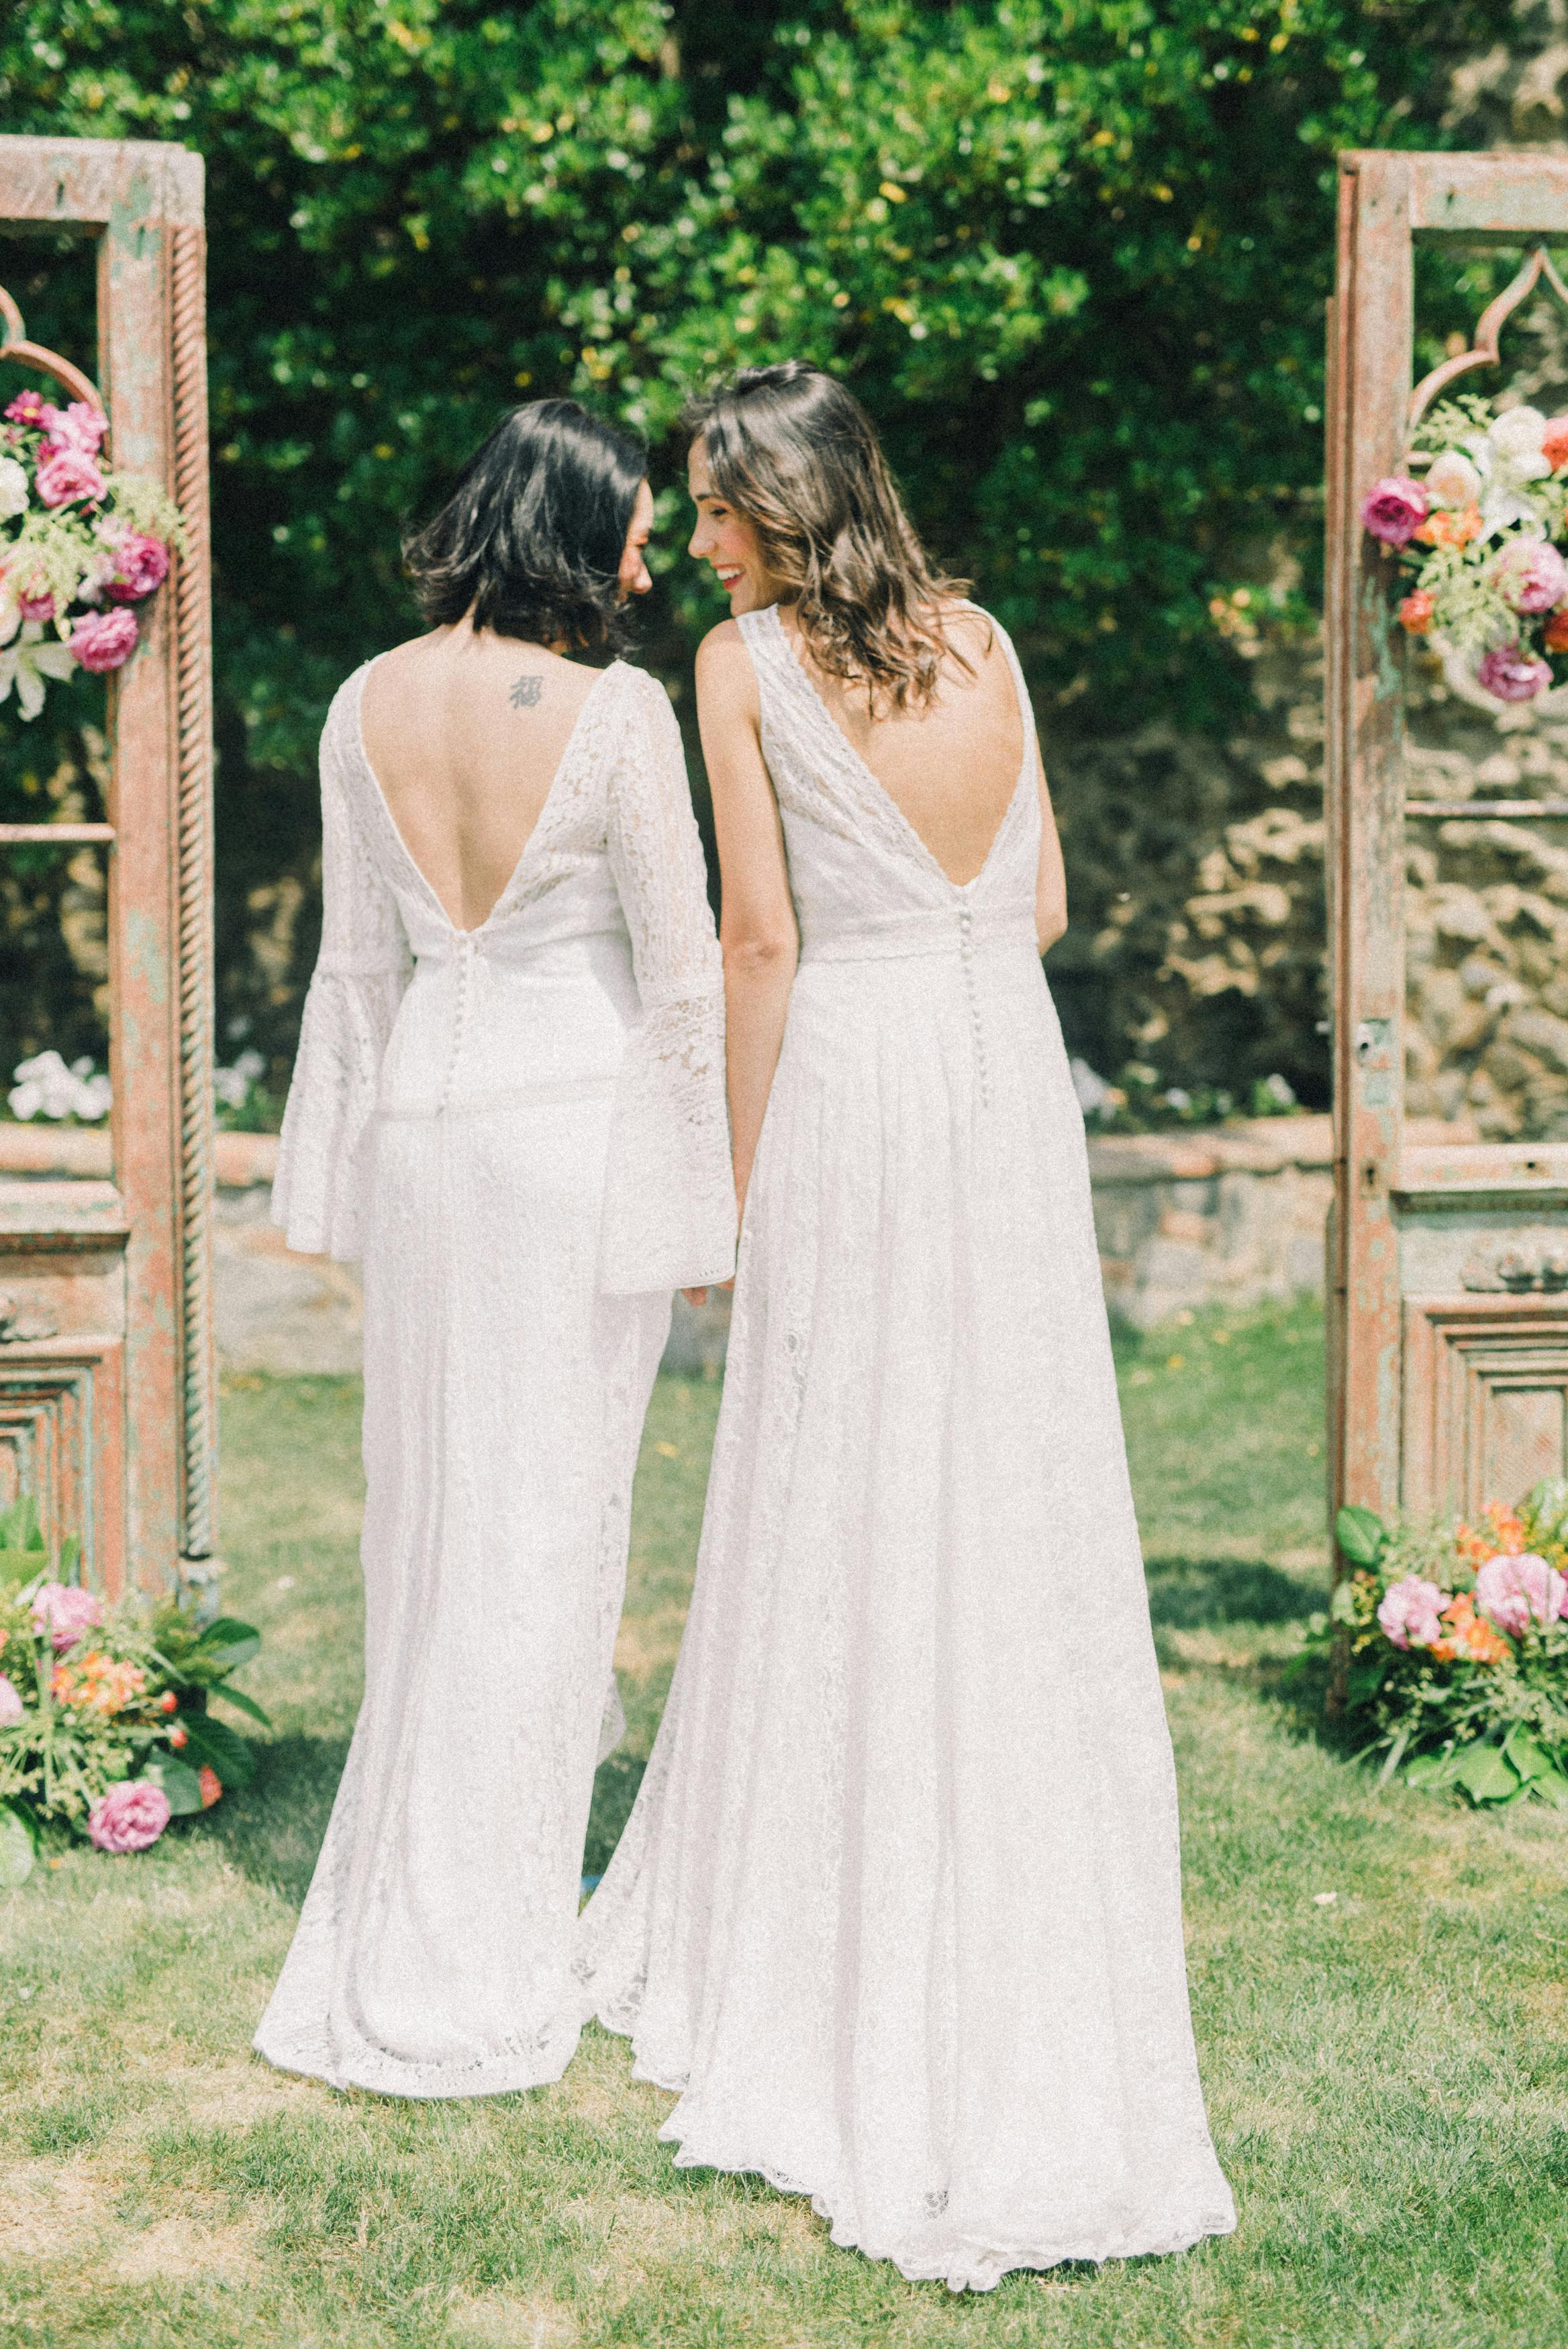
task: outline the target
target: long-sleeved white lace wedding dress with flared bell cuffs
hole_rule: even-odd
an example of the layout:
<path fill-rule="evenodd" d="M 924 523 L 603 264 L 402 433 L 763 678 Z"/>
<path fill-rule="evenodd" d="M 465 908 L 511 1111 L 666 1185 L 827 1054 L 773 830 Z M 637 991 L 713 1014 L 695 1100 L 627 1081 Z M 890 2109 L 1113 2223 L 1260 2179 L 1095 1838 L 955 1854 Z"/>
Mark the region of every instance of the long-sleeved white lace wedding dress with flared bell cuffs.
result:
<path fill-rule="evenodd" d="M 679 731 L 616 662 L 456 930 L 360 735 L 273 1212 L 364 1257 L 364 1705 L 256 2048 L 393 2095 L 557 2079 L 632 1468 L 670 1292 L 733 1264 L 724 998 Z"/>

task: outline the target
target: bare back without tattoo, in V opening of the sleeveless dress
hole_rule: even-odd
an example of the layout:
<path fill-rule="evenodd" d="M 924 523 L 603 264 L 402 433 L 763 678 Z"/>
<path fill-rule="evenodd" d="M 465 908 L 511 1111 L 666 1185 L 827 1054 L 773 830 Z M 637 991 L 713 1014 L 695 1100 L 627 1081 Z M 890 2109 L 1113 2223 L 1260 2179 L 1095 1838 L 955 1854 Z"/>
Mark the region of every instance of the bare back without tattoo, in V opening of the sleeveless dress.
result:
<path fill-rule="evenodd" d="M 943 665 L 926 709 L 870 716 L 865 688 L 827 677 L 802 641 L 795 613 L 780 622 L 832 721 L 860 754 L 900 815 L 959 888 L 983 869 L 1018 789 L 1023 719 L 1006 653 L 985 613 L 950 606 L 947 639 L 961 651 Z"/>

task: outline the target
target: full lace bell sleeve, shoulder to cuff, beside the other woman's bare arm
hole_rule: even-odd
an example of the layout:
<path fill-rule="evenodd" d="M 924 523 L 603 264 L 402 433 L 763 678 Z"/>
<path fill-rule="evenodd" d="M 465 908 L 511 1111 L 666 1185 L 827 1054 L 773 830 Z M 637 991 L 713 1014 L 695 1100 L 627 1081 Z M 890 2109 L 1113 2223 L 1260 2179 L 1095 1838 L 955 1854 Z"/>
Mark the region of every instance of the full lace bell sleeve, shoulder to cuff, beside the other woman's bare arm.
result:
<path fill-rule="evenodd" d="M 609 862 L 632 933 L 642 1019 L 609 1142 L 599 1287 L 698 1287 L 736 1268 L 724 1104 L 724 965 L 670 700 L 630 672 L 609 792 Z"/>

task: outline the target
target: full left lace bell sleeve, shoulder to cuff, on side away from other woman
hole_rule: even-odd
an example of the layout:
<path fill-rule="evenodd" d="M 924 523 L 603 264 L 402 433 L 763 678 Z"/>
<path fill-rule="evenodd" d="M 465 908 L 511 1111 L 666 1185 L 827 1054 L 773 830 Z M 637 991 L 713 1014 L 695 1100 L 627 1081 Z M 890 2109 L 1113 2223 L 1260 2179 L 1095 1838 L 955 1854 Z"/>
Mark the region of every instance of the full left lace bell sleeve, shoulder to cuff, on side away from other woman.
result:
<path fill-rule="evenodd" d="M 322 951 L 306 996 L 277 1146 L 273 1221 L 289 1247 L 360 1254 L 364 1139 L 381 1055 L 409 984 L 409 942 L 350 815 L 350 716 L 341 695 L 322 735 Z"/>

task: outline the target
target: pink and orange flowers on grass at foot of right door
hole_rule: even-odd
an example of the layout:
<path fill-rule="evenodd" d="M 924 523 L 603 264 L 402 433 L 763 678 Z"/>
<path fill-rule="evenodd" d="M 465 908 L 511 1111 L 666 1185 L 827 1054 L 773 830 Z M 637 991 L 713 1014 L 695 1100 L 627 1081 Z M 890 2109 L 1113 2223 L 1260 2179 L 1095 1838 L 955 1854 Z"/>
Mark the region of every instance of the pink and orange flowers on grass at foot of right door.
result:
<path fill-rule="evenodd" d="M 1347 1712 L 1382 1778 L 1568 1804 L 1568 1480 L 1493 1501 L 1479 1527 L 1342 1508 L 1335 1534 L 1352 1571 L 1307 1651 L 1347 1640 Z"/>

